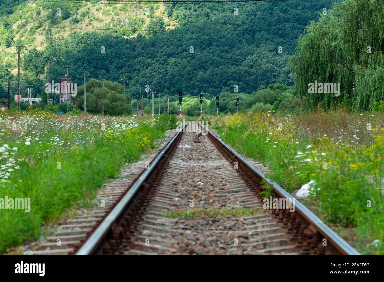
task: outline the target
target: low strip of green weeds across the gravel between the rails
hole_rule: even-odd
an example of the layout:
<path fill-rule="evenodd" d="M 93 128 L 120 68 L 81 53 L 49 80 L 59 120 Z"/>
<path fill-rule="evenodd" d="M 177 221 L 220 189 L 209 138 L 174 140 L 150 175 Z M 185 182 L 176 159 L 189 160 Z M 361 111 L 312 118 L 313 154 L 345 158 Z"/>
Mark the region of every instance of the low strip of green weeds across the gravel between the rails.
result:
<path fill-rule="evenodd" d="M 190 209 L 190 210 L 176 210 L 167 212 L 164 217 L 171 219 L 175 218 L 215 218 L 215 217 L 238 217 L 238 216 L 252 216 L 258 214 L 260 211 L 257 209 L 248 208 L 222 208 L 222 209 Z"/>

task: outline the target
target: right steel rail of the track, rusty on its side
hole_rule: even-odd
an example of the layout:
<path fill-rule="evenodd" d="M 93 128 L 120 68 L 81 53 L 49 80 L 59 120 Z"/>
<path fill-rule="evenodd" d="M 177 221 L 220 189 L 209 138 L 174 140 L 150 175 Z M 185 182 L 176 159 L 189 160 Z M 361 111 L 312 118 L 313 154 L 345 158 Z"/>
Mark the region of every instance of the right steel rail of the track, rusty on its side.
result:
<path fill-rule="evenodd" d="M 204 127 L 203 127 L 204 128 Z M 217 140 L 218 143 L 222 145 L 225 149 L 230 151 L 234 157 L 243 162 L 248 169 L 252 170 L 255 174 L 258 175 L 261 179 L 264 179 L 269 185 L 273 187 L 273 190 L 276 194 L 280 195 L 280 197 L 285 199 L 293 199 L 293 197 L 288 194 L 280 185 L 276 184 L 276 182 L 272 181 L 268 177 L 263 174 L 260 170 L 255 168 L 250 162 L 245 160 L 242 156 L 240 156 L 235 150 L 225 144 L 221 139 L 217 138 L 214 134 L 212 134 L 208 129 L 204 128 L 213 138 Z M 324 222 L 319 219 L 316 215 L 313 214 L 310 210 L 308 210 L 303 204 L 301 204 L 298 200 L 295 199 L 295 211 L 297 211 L 308 223 L 316 227 L 318 232 L 324 236 L 332 245 L 339 250 L 339 252 L 343 255 L 361 255 L 357 250 L 355 250 L 351 245 L 349 245 L 343 238 L 341 238 L 338 234 L 336 234 L 332 229 L 330 229 Z"/>

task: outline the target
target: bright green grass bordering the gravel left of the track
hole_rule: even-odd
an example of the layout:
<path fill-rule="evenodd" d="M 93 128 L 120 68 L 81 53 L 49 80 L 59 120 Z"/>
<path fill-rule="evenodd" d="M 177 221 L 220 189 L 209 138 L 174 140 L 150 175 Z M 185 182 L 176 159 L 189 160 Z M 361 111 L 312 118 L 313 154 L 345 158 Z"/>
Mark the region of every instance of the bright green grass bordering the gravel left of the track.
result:
<path fill-rule="evenodd" d="M 91 123 L 93 119 L 89 116 Z M 30 198 L 31 210 L 0 210 L 0 252 L 23 244 L 26 239 L 37 239 L 42 233 L 41 227 L 60 217 L 68 208 L 89 205 L 89 200 L 106 180 L 116 177 L 124 164 L 139 160 L 144 151 L 155 146 L 165 130 L 175 126 L 170 122 L 172 117 L 163 117 L 156 123 L 143 122 L 130 129 L 109 129 L 113 128 L 115 120 L 119 118 L 111 118 L 111 127 L 107 125 L 104 132 L 98 128 L 98 123 L 93 124 L 94 128 L 77 128 L 78 131 L 48 130 L 44 136 L 38 135 L 41 143 L 31 138 L 30 145 L 24 144 L 24 137 L 12 136 L 11 132 L 3 135 L 2 144 L 18 147 L 15 158 L 20 169 L 11 172 L 8 182 L 2 182 L 0 198 L 6 195 L 8 199 Z M 124 124 L 127 120 L 120 122 Z M 38 128 L 31 130 L 38 132 Z M 32 136 L 29 130 L 24 131 L 25 135 Z M 44 131 L 46 128 L 39 132 Z M 51 138 L 56 136 L 63 144 L 81 142 L 70 146 L 53 145 Z"/>

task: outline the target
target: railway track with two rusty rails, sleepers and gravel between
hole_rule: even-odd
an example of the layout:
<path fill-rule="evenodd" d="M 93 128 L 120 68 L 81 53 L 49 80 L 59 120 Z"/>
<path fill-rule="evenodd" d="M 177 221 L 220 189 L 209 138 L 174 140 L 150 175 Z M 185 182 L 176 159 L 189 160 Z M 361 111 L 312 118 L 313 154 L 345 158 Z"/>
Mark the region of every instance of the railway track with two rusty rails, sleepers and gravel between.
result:
<path fill-rule="evenodd" d="M 264 209 L 263 179 L 273 199 L 291 196 L 206 132 L 178 132 L 71 253 L 359 254 L 300 202 Z"/>

